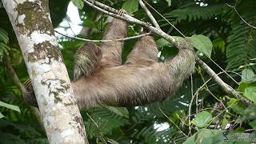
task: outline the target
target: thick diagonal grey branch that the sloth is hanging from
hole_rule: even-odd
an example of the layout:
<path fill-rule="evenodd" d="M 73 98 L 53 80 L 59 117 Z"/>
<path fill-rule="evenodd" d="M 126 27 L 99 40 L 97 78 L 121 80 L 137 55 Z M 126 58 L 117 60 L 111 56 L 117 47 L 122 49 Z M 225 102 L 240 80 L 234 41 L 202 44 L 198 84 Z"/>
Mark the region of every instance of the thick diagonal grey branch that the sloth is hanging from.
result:
<path fill-rule="evenodd" d="M 138 20 L 137 18 L 131 17 L 128 14 L 123 14 L 122 16 L 120 16 L 120 15 L 118 15 L 118 10 L 115 10 L 114 8 L 112 8 L 110 6 L 106 6 L 105 4 L 103 4 L 101 2 L 96 2 L 94 0 L 83 0 L 83 1 L 86 2 L 86 4 L 88 4 L 89 6 L 94 7 L 96 10 L 99 10 L 104 14 L 108 14 L 114 18 L 120 18 L 126 22 L 133 22 L 138 25 L 145 26 L 147 29 L 151 30 L 154 34 L 158 34 L 162 38 L 165 38 L 167 41 L 172 43 L 178 49 L 181 49 L 184 47 L 182 42 L 178 42 L 176 40 L 176 38 L 170 36 L 169 34 L 166 34 L 164 31 L 158 29 L 157 27 L 154 27 L 154 26 L 158 26 L 158 24 L 155 23 L 157 21 L 155 20 L 155 18 L 153 17 L 152 14 L 150 14 L 149 17 L 153 21 L 154 26 L 150 26 L 146 22 L 142 22 L 142 21 Z M 150 13 L 150 11 L 148 11 L 148 12 Z M 148 12 L 146 14 L 148 14 Z M 240 94 L 234 94 L 234 89 L 231 86 L 229 86 L 228 84 L 226 84 L 226 82 L 223 82 L 222 79 L 219 78 L 218 75 L 214 72 L 214 70 L 212 70 L 210 68 L 210 66 L 208 66 L 205 62 L 203 62 L 199 58 L 196 58 L 196 62 L 202 67 L 202 69 L 206 70 L 206 73 L 209 74 L 210 77 L 213 78 L 215 82 L 218 83 L 218 86 L 222 87 L 222 89 L 226 92 L 226 94 L 229 94 L 230 96 L 239 98 L 239 99 L 243 98 L 242 95 L 240 95 Z M 245 100 L 245 102 L 250 103 L 250 101 L 248 101 L 248 100 Z"/>

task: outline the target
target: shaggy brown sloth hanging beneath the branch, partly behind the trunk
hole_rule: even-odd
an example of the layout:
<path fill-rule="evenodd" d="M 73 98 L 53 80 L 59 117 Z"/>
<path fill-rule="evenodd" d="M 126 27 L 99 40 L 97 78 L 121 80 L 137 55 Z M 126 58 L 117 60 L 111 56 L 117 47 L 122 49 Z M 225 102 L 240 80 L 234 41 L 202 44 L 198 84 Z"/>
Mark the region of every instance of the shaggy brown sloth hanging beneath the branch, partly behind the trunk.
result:
<path fill-rule="evenodd" d="M 114 18 L 103 39 L 125 38 L 126 35 L 127 23 Z M 184 47 L 171 60 L 158 62 L 154 38 L 146 35 L 138 40 L 122 65 L 123 42 L 103 42 L 102 49 L 87 42 L 75 54 L 71 83 L 79 108 L 161 102 L 174 94 L 194 71 L 194 50 Z M 26 82 L 26 89 L 26 101 L 37 106 L 31 82 Z"/>

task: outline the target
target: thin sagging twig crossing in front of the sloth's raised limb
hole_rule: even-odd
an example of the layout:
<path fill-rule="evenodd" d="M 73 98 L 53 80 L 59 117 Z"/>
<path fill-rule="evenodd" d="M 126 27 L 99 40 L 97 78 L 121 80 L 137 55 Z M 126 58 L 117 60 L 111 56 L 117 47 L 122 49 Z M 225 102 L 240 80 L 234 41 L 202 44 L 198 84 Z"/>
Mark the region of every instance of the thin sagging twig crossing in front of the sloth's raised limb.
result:
<path fill-rule="evenodd" d="M 85 38 L 78 38 L 78 37 L 74 37 L 74 36 L 70 36 L 67 34 L 62 34 L 61 32 L 58 32 L 57 30 L 54 30 L 54 32 L 61 34 L 62 36 L 65 36 L 67 38 L 72 38 L 72 39 L 76 39 L 78 41 L 83 41 L 83 42 L 120 42 L 120 41 L 127 41 L 130 39 L 135 39 L 135 38 L 142 38 L 146 35 L 150 35 L 151 33 L 146 33 L 146 34 L 139 34 L 133 37 L 127 37 L 127 38 L 118 38 L 118 39 L 102 39 L 102 40 L 94 40 L 94 39 L 85 39 Z"/>

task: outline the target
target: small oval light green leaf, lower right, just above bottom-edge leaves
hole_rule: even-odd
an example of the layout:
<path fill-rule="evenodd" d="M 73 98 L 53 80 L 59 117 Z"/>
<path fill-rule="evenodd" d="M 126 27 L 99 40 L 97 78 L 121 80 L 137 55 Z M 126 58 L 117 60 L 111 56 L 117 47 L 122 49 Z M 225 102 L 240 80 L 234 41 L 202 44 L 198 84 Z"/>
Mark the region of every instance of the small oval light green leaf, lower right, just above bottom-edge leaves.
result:
<path fill-rule="evenodd" d="M 204 127 L 210 122 L 212 115 L 208 111 L 202 111 L 194 118 L 192 123 L 198 127 Z"/>

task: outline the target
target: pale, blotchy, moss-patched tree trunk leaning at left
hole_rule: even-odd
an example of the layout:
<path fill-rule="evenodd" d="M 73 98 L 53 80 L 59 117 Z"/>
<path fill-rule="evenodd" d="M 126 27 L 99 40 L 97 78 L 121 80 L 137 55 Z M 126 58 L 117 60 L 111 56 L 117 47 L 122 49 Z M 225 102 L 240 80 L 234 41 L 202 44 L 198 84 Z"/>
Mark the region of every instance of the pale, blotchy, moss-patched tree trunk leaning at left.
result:
<path fill-rule="evenodd" d="M 14 28 L 50 143 L 88 143 L 50 20 L 48 0 L 2 0 Z"/>

